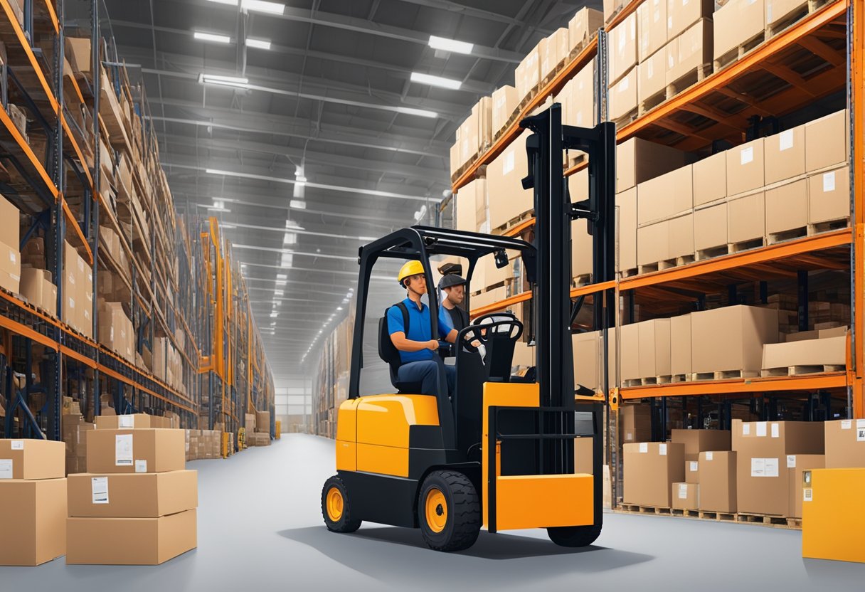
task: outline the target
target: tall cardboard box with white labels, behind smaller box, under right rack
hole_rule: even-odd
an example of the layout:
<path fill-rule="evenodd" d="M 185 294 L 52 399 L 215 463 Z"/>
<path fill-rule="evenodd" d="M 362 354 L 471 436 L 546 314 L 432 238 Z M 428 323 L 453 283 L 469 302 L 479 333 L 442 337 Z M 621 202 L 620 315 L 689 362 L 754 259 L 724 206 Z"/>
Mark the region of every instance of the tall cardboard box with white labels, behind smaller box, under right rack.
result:
<path fill-rule="evenodd" d="M 791 516 L 790 457 L 823 454 L 823 437 L 819 421 L 734 420 L 738 511 Z"/>

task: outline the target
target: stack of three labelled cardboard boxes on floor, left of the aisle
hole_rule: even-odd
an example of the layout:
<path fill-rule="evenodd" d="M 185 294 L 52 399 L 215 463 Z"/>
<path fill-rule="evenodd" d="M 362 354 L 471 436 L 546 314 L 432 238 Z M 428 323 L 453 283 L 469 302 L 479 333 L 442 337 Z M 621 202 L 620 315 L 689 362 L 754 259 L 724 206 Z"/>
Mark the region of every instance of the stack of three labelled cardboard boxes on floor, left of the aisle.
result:
<path fill-rule="evenodd" d="M 185 470 L 183 432 L 99 427 L 87 437 L 90 473 L 69 478 L 67 563 L 157 565 L 195 549 L 197 473 Z"/>

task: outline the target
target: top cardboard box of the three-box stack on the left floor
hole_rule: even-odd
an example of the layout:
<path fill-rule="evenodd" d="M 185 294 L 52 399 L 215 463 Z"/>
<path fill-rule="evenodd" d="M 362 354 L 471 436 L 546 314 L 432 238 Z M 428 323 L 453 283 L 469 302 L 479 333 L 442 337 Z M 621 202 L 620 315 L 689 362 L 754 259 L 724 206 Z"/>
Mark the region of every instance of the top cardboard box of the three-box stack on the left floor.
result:
<path fill-rule="evenodd" d="M 94 429 L 87 432 L 91 473 L 165 473 L 185 467 L 179 429 Z"/>

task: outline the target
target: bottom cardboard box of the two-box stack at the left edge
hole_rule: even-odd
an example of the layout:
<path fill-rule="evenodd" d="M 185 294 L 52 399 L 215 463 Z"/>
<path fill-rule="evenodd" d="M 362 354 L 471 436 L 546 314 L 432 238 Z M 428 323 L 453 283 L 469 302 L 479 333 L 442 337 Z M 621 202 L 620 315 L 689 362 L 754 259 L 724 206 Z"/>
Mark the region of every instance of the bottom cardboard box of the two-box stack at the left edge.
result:
<path fill-rule="evenodd" d="M 0 480 L 0 565 L 41 565 L 66 554 L 66 479 Z"/>

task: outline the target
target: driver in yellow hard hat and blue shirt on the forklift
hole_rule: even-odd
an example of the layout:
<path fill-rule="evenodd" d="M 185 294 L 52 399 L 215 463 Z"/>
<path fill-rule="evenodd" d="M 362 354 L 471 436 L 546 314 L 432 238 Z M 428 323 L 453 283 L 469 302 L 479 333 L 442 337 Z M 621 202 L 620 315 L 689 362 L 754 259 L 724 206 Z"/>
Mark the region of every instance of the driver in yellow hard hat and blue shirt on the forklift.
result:
<path fill-rule="evenodd" d="M 400 286 L 406 288 L 407 298 L 400 304 L 408 313 L 408 331 L 400 306 L 388 308 L 388 333 L 391 343 L 400 351 L 400 382 L 420 383 L 422 395 L 438 394 L 439 365 L 445 369 L 447 394 L 450 396 L 457 383 L 457 369 L 441 364 L 437 351 L 439 341 L 432 338 L 430 309 L 420 298 L 426 294 L 426 275 L 420 261 L 408 261 L 397 275 Z M 457 330 L 439 315 L 439 337 L 449 343 L 457 340 Z"/>

